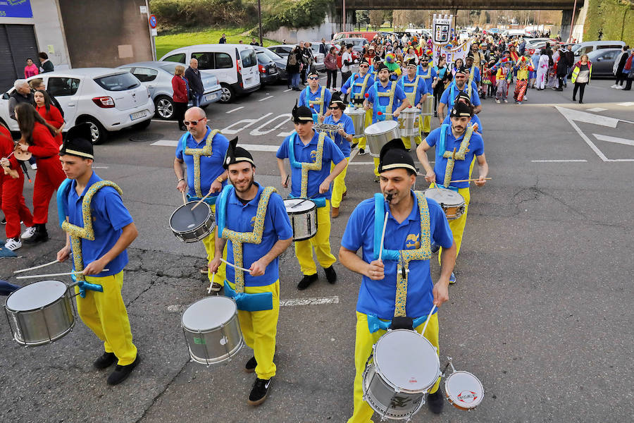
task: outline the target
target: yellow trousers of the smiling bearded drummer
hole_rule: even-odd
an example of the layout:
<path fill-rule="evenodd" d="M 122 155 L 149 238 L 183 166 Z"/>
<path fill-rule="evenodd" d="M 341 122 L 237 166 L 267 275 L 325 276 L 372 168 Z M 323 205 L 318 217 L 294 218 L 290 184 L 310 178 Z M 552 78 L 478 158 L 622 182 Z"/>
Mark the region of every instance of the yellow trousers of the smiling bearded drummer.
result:
<path fill-rule="evenodd" d="M 235 289 L 235 285 L 228 282 Z M 259 379 L 271 379 L 275 376 L 275 334 L 278 332 L 278 317 L 280 316 L 280 280 L 266 286 L 245 286 L 247 294 L 273 293 L 273 309 L 261 312 L 245 312 L 238 310 L 238 320 L 244 343 L 253 350 L 256 357 L 255 372 Z"/>

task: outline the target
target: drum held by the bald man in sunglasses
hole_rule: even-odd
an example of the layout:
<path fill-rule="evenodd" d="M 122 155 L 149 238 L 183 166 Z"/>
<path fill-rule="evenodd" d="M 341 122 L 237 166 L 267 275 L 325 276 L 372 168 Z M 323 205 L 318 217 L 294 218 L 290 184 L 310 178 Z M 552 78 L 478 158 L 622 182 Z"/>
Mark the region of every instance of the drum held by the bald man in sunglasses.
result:
<path fill-rule="evenodd" d="M 206 238 L 216 227 L 211 207 L 202 202 L 192 210 L 197 201 L 183 204 L 170 217 L 170 229 L 183 243 L 196 243 Z"/>

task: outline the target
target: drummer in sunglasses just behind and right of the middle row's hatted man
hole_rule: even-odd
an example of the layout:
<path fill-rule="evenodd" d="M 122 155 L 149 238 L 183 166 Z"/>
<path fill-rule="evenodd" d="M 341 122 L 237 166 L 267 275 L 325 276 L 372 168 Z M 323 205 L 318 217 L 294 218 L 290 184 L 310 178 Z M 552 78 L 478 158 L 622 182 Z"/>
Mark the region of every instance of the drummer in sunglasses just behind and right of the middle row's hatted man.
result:
<path fill-rule="evenodd" d="M 330 135 L 332 135 L 332 141 L 339 147 L 346 159 L 346 167 L 344 167 L 341 173 L 337 175 L 337 178 L 335 178 L 334 183 L 332 183 L 332 198 L 330 202 L 332 205 L 333 218 L 339 216 L 339 205 L 341 204 L 342 198 L 345 197 L 348 192 L 346 188 L 346 173 L 348 171 L 348 161 L 350 160 L 350 142 L 352 142 L 354 138 L 354 122 L 352 122 L 350 116 L 344 114 L 343 111 L 345 108 L 346 106 L 344 106 L 340 95 L 332 95 L 330 106 L 328 106 L 330 116 L 323 121 L 323 123 L 328 125 L 339 125 L 339 130 L 334 134 L 330 133 Z M 331 163 L 330 170 L 332 171 L 333 168 L 335 168 L 335 164 Z"/>

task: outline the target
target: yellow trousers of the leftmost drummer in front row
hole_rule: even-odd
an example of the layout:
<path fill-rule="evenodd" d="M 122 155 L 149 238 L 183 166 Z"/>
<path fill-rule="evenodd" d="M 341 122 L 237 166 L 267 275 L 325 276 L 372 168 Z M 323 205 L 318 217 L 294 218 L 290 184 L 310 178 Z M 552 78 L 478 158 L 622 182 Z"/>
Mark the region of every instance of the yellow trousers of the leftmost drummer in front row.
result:
<path fill-rule="evenodd" d="M 137 358 L 137 347 L 132 343 L 130 320 L 121 297 L 123 270 L 116 275 L 96 278 L 86 276 L 89 283 L 98 283 L 103 293 L 86 290 L 86 298 L 77 295 L 77 314 L 95 335 L 104 341 L 106 353 L 114 353 L 120 366 L 127 366 Z M 75 293 L 79 287 L 75 286 Z"/>

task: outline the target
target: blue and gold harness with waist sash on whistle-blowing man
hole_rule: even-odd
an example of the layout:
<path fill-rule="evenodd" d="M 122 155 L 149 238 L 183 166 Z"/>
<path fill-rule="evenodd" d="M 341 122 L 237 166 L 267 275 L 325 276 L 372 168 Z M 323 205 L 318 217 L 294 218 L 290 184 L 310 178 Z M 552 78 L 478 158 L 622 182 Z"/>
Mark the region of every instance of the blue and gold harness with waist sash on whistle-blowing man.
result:
<path fill-rule="evenodd" d="M 407 281 L 409 278 L 409 262 L 412 260 L 428 260 L 431 258 L 430 248 L 430 221 L 429 208 L 427 199 L 423 192 L 415 191 L 416 202 L 418 203 L 418 212 L 421 218 L 421 247 L 416 250 L 387 250 L 383 248 L 383 259 L 398 260 L 397 264 L 397 287 L 396 300 L 394 302 L 394 317 L 406 316 L 407 301 Z M 379 251 L 383 247 L 380 245 L 381 234 L 383 233 L 383 218 L 385 216 L 385 199 L 383 195 L 377 193 L 374 195 L 374 257 L 378 259 Z M 414 319 L 414 328 L 419 326 L 427 319 L 427 315 L 423 315 Z M 379 329 L 387 330 L 390 326 L 389 321 L 380 320 L 373 314 L 368 314 L 368 329 L 371 333 Z"/>

